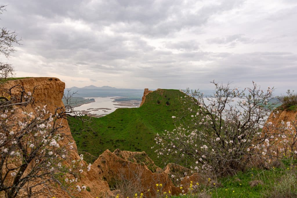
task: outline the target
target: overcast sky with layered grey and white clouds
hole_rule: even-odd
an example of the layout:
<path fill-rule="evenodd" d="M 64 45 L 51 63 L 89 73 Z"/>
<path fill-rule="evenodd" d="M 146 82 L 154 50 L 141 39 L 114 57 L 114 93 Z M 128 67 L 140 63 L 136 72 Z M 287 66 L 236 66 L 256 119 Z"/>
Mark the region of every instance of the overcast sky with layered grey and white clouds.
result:
<path fill-rule="evenodd" d="M 252 80 L 297 91 L 296 0 L 2 1 L 22 37 L 17 76 L 67 87 L 211 89 Z M 3 57 L 1 57 L 4 59 Z"/>

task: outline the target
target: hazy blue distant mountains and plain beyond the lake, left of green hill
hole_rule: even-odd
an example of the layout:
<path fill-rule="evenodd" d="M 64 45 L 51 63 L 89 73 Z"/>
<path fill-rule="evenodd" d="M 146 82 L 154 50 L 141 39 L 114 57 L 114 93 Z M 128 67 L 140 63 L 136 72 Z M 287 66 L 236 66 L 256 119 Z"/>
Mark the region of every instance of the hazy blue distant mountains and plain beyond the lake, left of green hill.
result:
<path fill-rule="evenodd" d="M 85 86 L 82 88 L 71 87 L 65 89 L 64 93 L 67 94 L 67 90 L 71 90 L 71 93 L 75 93 L 76 97 L 126 97 L 128 99 L 141 99 L 144 89 L 118 89 L 110 86 L 96 87 L 94 85 Z"/>

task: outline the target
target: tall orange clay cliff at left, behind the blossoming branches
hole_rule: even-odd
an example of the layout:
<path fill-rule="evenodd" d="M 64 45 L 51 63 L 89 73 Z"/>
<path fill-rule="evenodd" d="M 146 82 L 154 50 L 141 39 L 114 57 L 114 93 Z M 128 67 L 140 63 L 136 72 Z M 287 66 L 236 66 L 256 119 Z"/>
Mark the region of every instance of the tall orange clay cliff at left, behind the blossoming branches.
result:
<path fill-rule="evenodd" d="M 47 105 L 47 109 L 50 111 L 50 113 L 54 113 L 56 107 L 63 107 L 64 104 L 62 102 L 62 97 L 64 94 L 64 88 L 65 83 L 59 80 L 58 78 L 51 78 L 51 77 L 38 77 L 38 78 L 24 78 L 19 80 L 11 80 L 7 81 L 2 87 L 4 90 L 1 90 L 1 94 L 3 94 L 3 91 L 6 89 L 11 88 L 15 85 L 22 85 L 26 92 L 33 91 L 33 88 L 35 87 L 35 91 L 33 94 L 34 100 L 36 102 L 36 106 L 43 106 Z M 6 90 L 7 91 L 7 90 Z M 12 89 L 12 93 L 19 93 L 18 90 Z M 31 105 L 28 105 L 25 107 L 25 111 L 27 112 L 34 112 L 34 107 L 31 107 Z M 59 142 L 60 145 L 67 144 L 68 142 L 74 142 L 73 137 L 71 135 L 69 125 L 67 123 L 67 120 L 61 120 L 61 124 L 63 127 L 63 132 L 68 136 L 68 140 L 66 138 Z M 77 152 L 77 147 L 74 144 L 74 149 L 72 149 L 71 153 L 69 153 L 71 159 L 79 159 L 79 155 Z M 83 161 L 84 165 L 87 166 L 86 162 Z M 93 167 L 91 167 L 91 170 L 89 172 L 84 171 L 80 175 L 80 182 L 78 183 L 80 186 L 85 185 L 90 188 L 89 191 L 82 191 L 80 194 L 76 195 L 78 197 L 98 197 L 100 194 L 110 194 L 110 190 L 108 187 L 108 184 L 98 178 L 97 170 L 95 170 Z M 62 191 L 59 188 L 52 190 L 55 193 L 55 197 L 69 197 L 64 191 Z M 2 196 L 0 194 L 0 196 Z M 40 197 L 40 196 L 39 196 Z M 48 195 L 44 196 L 48 197 Z"/>

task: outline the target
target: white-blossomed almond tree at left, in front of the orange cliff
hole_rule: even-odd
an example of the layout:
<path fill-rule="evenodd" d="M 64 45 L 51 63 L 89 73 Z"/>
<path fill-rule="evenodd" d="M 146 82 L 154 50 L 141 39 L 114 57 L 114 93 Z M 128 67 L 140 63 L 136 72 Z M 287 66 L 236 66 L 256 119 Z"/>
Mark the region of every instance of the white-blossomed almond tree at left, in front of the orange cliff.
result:
<path fill-rule="evenodd" d="M 52 114 L 46 106 L 34 106 L 33 96 L 34 92 L 27 93 L 16 85 L 1 97 L 0 191 L 6 197 L 31 197 L 50 194 L 55 183 L 69 194 L 86 189 L 75 183 L 77 174 L 90 170 L 90 164 L 84 167 L 82 155 L 77 160 L 69 158 L 74 142 L 68 141 L 61 124 L 68 113 L 75 112 L 71 107 L 59 107 Z M 35 111 L 27 112 L 28 105 Z M 68 143 L 61 145 L 65 140 Z"/>

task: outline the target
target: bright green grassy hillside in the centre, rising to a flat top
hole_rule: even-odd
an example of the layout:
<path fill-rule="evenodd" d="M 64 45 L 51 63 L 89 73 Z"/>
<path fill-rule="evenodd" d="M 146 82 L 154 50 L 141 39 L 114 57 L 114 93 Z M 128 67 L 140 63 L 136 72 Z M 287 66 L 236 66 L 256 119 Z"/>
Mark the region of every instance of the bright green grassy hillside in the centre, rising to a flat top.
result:
<path fill-rule="evenodd" d="M 151 149 L 155 145 L 155 134 L 174 128 L 171 116 L 176 115 L 181 107 L 179 98 L 184 95 L 179 90 L 162 89 L 149 93 L 139 108 L 119 108 L 84 124 L 70 118 L 69 126 L 79 154 L 88 152 L 94 157 L 86 160 L 94 161 L 106 149 L 145 151 L 157 165 L 162 166 Z"/>

